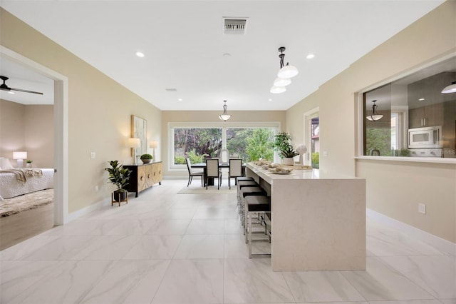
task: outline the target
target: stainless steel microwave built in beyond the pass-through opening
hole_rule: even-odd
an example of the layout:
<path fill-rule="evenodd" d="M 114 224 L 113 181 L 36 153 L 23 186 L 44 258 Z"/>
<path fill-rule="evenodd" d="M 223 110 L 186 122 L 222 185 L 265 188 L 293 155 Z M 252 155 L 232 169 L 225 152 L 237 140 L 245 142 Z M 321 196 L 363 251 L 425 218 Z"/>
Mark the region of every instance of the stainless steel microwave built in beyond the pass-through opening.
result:
<path fill-rule="evenodd" d="M 442 126 L 409 128 L 408 148 L 442 148 Z"/>

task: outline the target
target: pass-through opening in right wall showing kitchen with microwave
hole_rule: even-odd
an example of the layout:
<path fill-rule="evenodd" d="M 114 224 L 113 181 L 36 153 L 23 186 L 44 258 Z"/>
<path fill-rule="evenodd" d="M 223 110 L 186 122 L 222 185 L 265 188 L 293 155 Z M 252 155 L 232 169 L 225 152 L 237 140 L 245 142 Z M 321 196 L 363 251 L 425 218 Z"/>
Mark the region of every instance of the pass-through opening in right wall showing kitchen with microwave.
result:
<path fill-rule="evenodd" d="M 364 92 L 363 155 L 454 158 L 456 93 L 441 93 L 452 81 L 456 81 L 455 57 Z M 375 121 L 373 107 L 382 116 Z M 432 142 L 420 141 L 423 146 L 409 142 L 410 132 L 430 129 L 439 130 Z"/>

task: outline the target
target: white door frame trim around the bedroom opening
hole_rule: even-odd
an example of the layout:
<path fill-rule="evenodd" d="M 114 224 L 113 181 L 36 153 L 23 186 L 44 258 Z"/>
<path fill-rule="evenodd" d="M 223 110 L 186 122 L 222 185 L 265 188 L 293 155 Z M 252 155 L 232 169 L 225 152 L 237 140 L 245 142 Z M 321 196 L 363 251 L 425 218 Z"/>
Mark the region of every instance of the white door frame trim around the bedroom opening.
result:
<path fill-rule="evenodd" d="M 68 217 L 68 78 L 4 46 L 0 56 L 50 78 L 54 83 L 54 225 Z"/>

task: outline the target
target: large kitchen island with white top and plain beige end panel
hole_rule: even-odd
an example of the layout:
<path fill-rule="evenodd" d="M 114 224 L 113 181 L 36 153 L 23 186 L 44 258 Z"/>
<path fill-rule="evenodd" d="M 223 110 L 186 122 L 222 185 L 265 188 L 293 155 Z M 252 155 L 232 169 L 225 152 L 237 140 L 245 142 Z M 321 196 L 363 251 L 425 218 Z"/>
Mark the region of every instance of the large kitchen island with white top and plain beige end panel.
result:
<path fill-rule="evenodd" d="M 247 176 L 271 196 L 272 270 L 366 270 L 364 179 L 254 163 Z"/>

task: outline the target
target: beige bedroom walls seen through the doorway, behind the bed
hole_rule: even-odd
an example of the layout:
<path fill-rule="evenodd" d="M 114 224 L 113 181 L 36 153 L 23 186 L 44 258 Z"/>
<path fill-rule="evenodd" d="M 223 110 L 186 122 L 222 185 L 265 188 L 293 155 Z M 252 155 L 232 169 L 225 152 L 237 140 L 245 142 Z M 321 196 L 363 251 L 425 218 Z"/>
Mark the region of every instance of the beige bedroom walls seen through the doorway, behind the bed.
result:
<path fill-rule="evenodd" d="M 0 155 L 16 166 L 13 151 L 26 151 L 33 168 L 53 168 L 53 106 L 0 100 L 0 108 Z"/>

